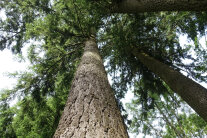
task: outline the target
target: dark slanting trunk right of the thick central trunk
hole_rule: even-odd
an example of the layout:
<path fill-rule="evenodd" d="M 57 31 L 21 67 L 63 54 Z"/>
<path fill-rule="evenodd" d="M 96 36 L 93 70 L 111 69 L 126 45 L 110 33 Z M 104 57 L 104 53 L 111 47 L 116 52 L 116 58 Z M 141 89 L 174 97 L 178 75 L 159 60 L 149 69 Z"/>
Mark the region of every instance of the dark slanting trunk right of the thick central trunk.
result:
<path fill-rule="evenodd" d="M 133 54 L 207 121 L 207 89 L 145 53 Z"/>

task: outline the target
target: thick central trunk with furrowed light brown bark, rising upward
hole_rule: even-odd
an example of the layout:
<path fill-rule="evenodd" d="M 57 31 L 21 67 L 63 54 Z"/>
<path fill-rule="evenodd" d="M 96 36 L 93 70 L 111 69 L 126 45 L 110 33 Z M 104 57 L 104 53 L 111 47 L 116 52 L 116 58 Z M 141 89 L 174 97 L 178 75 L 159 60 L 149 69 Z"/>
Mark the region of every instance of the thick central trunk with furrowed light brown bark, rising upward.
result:
<path fill-rule="evenodd" d="M 85 43 L 54 138 L 128 138 L 94 39 Z"/>

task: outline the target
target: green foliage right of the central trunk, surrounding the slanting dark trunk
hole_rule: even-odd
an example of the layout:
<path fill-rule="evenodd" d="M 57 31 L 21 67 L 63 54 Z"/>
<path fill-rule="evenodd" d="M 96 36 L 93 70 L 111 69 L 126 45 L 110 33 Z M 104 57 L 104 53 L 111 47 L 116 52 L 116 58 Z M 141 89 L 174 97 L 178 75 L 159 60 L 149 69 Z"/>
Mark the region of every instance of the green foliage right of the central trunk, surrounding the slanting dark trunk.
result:
<path fill-rule="evenodd" d="M 185 113 L 177 114 L 177 108 L 180 106 L 182 109 L 179 110 L 185 112 L 185 104 L 176 100 L 177 96 L 173 96 L 169 92 L 170 89 L 166 84 L 144 67 L 132 54 L 133 49 L 136 48 L 175 70 L 187 72 L 189 77 L 197 81 L 205 82 L 206 77 L 202 74 L 206 73 L 206 66 L 204 65 L 206 63 L 206 58 L 204 58 L 206 57 L 206 49 L 196 39 L 193 39 L 193 36 L 196 38 L 202 36 L 197 34 L 201 31 L 197 30 L 200 23 L 196 20 L 197 15 L 193 15 L 194 13 L 189 12 L 115 14 L 106 19 L 105 30 L 101 32 L 104 35 L 100 35 L 99 41 L 102 45 L 102 54 L 107 61 L 108 72 L 113 76 L 113 87 L 116 90 L 116 95 L 117 97 L 124 97 L 128 86 L 132 86 L 136 97 L 128 105 L 133 115 L 132 120 L 128 121 L 131 132 L 142 132 L 157 137 L 194 136 L 190 131 L 186 132 L 185 128 L 182 128 L 184 125 L 180 121 L 182 117 L 177 117 L 186 115 Z M 188 18 L 188 20 L 183 21 L 183 18 Z M 198 26 L 188 28 L 186 23 L 197 23 Z M 173 26 L 173 24 L 176 25 Z M 206 25 L 203 25 L 205 28 Z M 178 33 L 187 33 L 195 45 L 180 46 Z M 192 56 L 192 51 L 194 51 L 195 56 Z M 184 64 L 183 60 L 191 62 Z M 175 106 L 171 107 L 172 104 Z M 187 114 L 191 115 L 192 112 Z M 198 116 L 197 118 L 201 119 Z M 153 124 L 157 122 L 159 122 L 158 125 Z M 205 125 L 204 122 L 203 124 Z M 166 127 L 167 131 L 162 127 Z M 190 126 L 191 129 L 193 127 Z M 171 130 L 172 135 L 168 130 Z M 203 128 L 192 130 L 192 132 L 205 136 L 206 132 L 202 130 Z"/>

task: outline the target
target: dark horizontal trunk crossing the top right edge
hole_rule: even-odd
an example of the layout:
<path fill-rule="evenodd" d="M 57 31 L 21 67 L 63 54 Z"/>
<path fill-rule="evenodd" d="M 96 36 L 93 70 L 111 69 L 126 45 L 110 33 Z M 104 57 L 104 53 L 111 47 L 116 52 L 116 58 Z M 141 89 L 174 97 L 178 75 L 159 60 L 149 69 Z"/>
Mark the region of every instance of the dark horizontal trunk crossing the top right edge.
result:
<path fill-rule="evenodd" d="M 207 0 L 121 0 L 112 12 L 207 11 Z"/>

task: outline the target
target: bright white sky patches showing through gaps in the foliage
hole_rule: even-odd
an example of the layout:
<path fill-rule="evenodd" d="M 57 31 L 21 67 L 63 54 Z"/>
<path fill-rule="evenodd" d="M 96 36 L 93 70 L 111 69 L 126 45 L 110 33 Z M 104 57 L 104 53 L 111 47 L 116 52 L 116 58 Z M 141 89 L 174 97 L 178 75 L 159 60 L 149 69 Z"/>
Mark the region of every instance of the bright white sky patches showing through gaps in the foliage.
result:
<path fill-rule="evenodd" d="M 200 40 L 200 42 L 204 46 L 205 45 L 205 38 L 202 38 Z M 181 43 L 181 45 L 189 43 L 189 42 L 187 42 L 186 36 L 180 36 L 180 43 Z M 23 52 L 23 56 L 26 59 L 27 47 L 23 48 L 22 52 Z M 29 66 L 29 62 L 27 60 L 25 60 L 23 62 L 19 62 L 17 55 L 13 55 L 9 49 L 5 49 L 3 51 L 0 51 L 0 65 L 1 65 L 0 66 L 0 90 L 1 90 L 1 89 L 7 89 L 7 88 L 11 89 L 13 86 L 15 86 L 17 79 L 11 78 L 7 74 L 8 73 L 15 73 L 16 71 L 27 70 L 27 68 Z M 111 84 L 112 82 L 111 82 L 110 76 L 108 76 L 108 79 Z M 202 83 L 201 85 L 203 85 L 204 87 L 207 88 L 207 84 Z M 122 102 L 124 104 L 129 103 L 132 98 L 133 98 L 133 94 L 129 91 L 126 94 L 125 99 L 122 100 Z M 11 105 L 13 105 L 14 103 L 15 103 L 15 101 L 13 103 L 11 103 Z M 139 134 L 139 136 L 135 136 L 133 134 L 129 134 L 129 135 L 130 135 L 130 138 L 144 136 L 142 134 Z M 150 138 L 150 136 L 147 136 L 146 138 Z"/>

